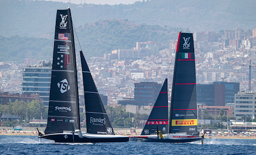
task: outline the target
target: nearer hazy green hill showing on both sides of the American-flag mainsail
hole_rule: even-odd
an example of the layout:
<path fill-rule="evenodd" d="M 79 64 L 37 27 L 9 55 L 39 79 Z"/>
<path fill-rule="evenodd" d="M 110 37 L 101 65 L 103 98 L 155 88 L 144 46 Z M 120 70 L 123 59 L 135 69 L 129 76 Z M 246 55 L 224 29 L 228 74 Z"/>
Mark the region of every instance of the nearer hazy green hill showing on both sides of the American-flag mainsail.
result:
<path fill-rule="evenodd" d="M 175 28 L 174 28 L 175 29 Z M 86 57 L 103 56 L 117 49 L 136 47 L 137 41 L 168 42 L 177 38 L 181 29 L 176 31 L 170 27 L 159 25 L 135 24 L 127 20 L 104 20 L 88 23 L 76 28 L 76 32 L 86 53 Z M 188 31 L 188 30 L 187 30 Z M 54 36 L 48 38 L 0 36 L 0 62 L 23 62 L 24 58 L 51 60 L 54 46 Z M 75 36 L 76 51 L 80 51 Z"/>

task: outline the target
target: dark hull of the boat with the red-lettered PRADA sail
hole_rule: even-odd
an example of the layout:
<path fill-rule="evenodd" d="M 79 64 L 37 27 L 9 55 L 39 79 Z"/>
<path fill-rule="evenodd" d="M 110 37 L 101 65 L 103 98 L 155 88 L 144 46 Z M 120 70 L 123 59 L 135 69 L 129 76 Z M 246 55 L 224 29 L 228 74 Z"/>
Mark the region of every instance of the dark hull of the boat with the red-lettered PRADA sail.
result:
<path fill-rule="evenodd" d="M 157 138 L 138 138 L 138 137 L 132 137 L 129 141 L 138 141 L 138 142 L 154 142 L 154 143 L 189 143 L 192 141 L 200 141 L 204 140 L 204 138 L 193 138 L 193 139 L 181 139 L 181 140 L 174 140 L 174 139 L 157 139 Z"/>

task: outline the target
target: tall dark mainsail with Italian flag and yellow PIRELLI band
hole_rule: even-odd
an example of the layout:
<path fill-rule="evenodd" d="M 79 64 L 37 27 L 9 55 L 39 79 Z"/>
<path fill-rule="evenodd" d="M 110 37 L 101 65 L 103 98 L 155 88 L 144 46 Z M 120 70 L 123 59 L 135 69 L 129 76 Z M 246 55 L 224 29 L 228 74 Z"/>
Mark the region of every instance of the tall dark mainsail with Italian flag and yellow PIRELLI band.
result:
<path fill-rule="evenodd" d="M 197 132 L 196 74 L 193 34 L 180 33 L 174 64 L 169 133 Z"/>

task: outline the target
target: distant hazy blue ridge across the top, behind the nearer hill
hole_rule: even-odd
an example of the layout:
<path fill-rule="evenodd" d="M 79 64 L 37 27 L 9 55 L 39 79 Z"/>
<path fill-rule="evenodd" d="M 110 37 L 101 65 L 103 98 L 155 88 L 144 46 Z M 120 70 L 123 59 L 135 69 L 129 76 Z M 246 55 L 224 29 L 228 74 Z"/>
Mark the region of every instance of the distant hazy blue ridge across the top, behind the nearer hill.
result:
<path fill-rule="evenodd" d="M 131 5 L 76 5 L 51 1 L 0 1 L 0 34 L 36 37 L 54 33 L 57 9 L 71 8 L 74 26 L 108 19 L 196 31 L 255 28 L 254 0 L 151 0 Z"/>

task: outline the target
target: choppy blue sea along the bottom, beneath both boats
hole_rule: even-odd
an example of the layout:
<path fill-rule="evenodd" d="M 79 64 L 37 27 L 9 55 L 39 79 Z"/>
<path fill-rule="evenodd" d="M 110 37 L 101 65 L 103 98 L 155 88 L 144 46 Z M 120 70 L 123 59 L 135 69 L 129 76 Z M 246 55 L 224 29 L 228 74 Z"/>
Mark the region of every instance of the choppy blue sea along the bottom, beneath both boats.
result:
<path fill-rule="evenodd" d="M 185 144 L 64 144 L 36 136 L 0 135 L 0 154 L 256 154 L 256 140 L 205 139 Z"/>

